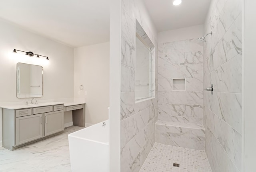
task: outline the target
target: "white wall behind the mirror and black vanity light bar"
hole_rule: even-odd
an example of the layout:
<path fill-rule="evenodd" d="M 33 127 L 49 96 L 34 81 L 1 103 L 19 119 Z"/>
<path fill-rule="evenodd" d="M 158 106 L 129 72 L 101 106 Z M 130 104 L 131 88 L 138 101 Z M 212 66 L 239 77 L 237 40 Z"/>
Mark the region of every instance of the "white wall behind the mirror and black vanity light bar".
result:
<path fill-rule="evenodd" d="M 15 102 L 26 99 L 16 98 L 16 64 L 29 63 L 43 67 L 42 99 L 73 98 L 74 96 L 74 49 L 40 35 L 26 31 L 16 25 L 0 20 L 0 102 Z M 27 57 L 24 53 L 12 53 L 13 49 L 32 51 L 48 56 Z M 1 111 L 0 111 L 1 112 Z M 0 120 L 2 115 L 0 114 Z M 2 122 L 0 121 L 0 142 Z"/>

